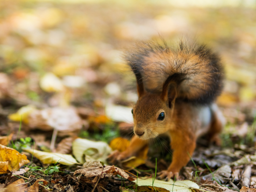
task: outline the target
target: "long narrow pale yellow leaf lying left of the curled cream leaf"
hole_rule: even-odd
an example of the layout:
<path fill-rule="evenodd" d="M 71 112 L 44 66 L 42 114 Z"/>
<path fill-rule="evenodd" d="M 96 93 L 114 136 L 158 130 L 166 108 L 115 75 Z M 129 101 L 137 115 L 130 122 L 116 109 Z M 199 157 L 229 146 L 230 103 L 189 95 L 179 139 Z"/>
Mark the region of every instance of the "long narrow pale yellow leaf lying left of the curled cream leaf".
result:
<path fill-rule="evenodd" d="M 38 151 L 34 149 L 24 149 L 24 151 L 31 153 L 36 158 L 38 158 L 42 163 L 60 163 L 62 165 L 74 165 L 78 162 L 72 155 L 66 155 L 61 153 L 49 153 L 44 151 Z"/>

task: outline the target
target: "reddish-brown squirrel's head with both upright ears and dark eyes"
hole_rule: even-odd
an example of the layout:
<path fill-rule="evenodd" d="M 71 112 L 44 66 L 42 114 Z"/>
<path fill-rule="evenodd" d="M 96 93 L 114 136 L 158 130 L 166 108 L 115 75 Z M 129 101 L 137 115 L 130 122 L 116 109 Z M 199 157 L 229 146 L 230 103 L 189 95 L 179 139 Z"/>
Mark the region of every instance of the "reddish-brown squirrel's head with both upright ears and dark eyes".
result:
<path fill-rule="evenodd" d="M 147 93 L 140 74 L 135 74 L 139 99 L 132 109 L 133 131 L 140 139 L 155 138 L 170 129 L 174 103 L 177 97 L 177 82 L 170 76 L 163 84 L 162 93 Z"/>

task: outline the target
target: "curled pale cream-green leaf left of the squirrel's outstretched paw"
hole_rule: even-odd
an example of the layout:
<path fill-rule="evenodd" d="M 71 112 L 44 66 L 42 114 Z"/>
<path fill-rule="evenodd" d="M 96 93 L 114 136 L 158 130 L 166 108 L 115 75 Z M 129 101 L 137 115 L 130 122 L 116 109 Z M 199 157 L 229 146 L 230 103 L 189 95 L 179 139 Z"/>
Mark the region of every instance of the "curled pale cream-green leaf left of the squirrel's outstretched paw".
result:
<path fill-rule="evenodd" d="M 77 138 L 72 144 L 72 151 L 75 158 L 80 163 L 96 160 L 105 163 L 112 150 L 105 142 L 95 142 L 88 139 Z"/>

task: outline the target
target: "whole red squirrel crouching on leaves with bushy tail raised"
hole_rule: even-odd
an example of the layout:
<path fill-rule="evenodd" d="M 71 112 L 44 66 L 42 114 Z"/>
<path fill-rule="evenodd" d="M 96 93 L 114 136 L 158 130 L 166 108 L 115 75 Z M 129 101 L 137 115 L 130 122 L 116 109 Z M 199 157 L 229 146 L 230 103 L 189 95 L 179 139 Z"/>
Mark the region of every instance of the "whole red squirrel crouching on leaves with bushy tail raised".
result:
<path fill-rule="evenodd" d="M 159 178 L 178 176 L 187 165 L 199 136 L 220 143 L 224 119 L 214 103 L 223 88 L 224 70 L 217 54 L 204 45 L 184 41 L 171 49 L 166 42 L 143 41 L 125 52 L 136 76 L 138 101 L 132 109 L 134 136 L 127 150 L 113 152 L 122 160 L 160 134 L 170 137 L 172 163 Z"/>

